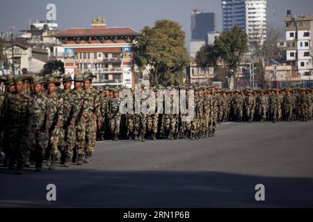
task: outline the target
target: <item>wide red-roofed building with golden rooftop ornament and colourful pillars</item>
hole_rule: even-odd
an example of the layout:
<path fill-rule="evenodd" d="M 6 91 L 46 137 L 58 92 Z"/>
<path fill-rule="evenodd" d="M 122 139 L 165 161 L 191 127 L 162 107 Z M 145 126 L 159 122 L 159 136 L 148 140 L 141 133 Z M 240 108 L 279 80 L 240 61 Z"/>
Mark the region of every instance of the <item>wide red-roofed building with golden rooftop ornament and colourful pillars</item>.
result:
<path fill-rule="evenodd" d="M 134 53 L 136 37 L 132 28 L 106 27 L 98 15 L 90 28 L 68 28 L 55 35 L 65 54 L 65 73 L 92 72 L 93 85 L 134 87 Z"/>

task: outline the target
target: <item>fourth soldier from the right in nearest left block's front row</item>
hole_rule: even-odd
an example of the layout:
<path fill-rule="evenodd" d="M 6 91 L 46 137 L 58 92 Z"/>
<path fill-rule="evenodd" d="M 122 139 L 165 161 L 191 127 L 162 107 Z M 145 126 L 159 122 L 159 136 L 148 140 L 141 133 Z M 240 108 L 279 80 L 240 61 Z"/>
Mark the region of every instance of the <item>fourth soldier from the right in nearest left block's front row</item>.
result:
<path fill-rule="evenodd" d="M 61 83 L 56 78 L 49 77 L 47 79 L 49 107 L 52 115 L 52 123 L 49 126 L 49 144 L 47 148 L 47 166 L 54 170 L 56 157 L 58 155 L 58 146 L 61 142 L 61 127 L 63 124 L 63 98 L 61 94 L 56 93 L 56 88 Z"/>

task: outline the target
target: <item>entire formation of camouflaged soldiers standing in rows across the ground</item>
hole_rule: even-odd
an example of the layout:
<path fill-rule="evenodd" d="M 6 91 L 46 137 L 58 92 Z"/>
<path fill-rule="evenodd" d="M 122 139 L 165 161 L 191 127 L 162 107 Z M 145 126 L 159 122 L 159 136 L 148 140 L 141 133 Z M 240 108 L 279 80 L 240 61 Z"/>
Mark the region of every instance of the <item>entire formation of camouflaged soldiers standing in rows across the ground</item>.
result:
<path fill-rule="evenodd" d="M 169 99 L 146 103 L 149 112 L 120 112 L 124 87 L 96 89 L 92 74 L 58 76 L 7 75 L 0 78 L 0 151 L 6 155 L 4 166 L 21 174 L 23 167 L 35 164 L 42 171 L 55 169 L 57 157 L 69 167 L 92 160 L 97 140 L 202 139 L 214 137 L 216 126 L 227 121 L 311 121 L 313 89 L 232 89 L 214 87 L 152 87 L 155 96 L 168 89 Z M 63 87 L 61 87 L 63 85 Z M 74 85 L 74 89 L 72 89 Z M 172 90 L 177 89 L 177 90 Z M 186 108 L 179 112 L 175 92 L 185 89 Z M 193 107 L 188 107 L 188 92 L 194 91 Z M 135 111 L 135 89 L 130 89 Z M 143 92 L 143 87 L 140 91 Z M 127 108 L 127 103 L 125 103 Z M 159 112 L 159 108 L 168 112 Z M 154 110 L 155 109 L 155 110 Z M 175 110 L 178 110 L 175 112 Z M 60 155 L 59 155 L 60 154 Z"/>

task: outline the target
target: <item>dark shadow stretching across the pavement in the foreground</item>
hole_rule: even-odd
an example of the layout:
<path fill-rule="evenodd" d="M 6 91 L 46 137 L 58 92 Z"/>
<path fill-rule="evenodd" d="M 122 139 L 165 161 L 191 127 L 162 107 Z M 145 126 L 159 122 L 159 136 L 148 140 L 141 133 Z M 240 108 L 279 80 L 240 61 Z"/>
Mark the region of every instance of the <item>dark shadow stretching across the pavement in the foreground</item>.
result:
<path fill-rule="evenodd" d="M 313 178 L 210 171 L 0 169 L 0 207 L 313 207 Z M 56 201 L 46 186 L 56 185 Z M 255 185 L 265 201 L 255 200 Z"/>

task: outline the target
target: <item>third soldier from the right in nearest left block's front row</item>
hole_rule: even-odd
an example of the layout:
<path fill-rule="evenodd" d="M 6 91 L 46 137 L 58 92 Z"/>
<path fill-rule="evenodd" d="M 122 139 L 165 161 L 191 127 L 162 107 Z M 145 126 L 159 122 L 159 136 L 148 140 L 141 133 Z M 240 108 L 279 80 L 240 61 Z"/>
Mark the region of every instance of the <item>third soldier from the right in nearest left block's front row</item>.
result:
<path fill-rule="evenodd" d="M 61 164 L 64 167 L 70 166 L 70 157 L 75 146 L 75 123 L 76 119 L 73 117 L 74 105 L 77 100 L 77 94 L 71 91 L 72 76 L 65 74 L 63 76 L 63 126 L 60 129 L 62 138 L 60 144 Z"/>

